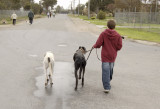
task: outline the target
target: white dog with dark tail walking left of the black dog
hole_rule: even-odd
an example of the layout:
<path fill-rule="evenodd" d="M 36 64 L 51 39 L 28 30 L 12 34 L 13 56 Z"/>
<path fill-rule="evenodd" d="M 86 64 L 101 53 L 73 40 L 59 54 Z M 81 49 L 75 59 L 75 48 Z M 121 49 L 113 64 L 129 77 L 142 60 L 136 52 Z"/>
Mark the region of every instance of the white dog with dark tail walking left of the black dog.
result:
<path fill-rule="evenodd" d="M 50 80 L 51 86 L 53 85 L 52 82 L 52 75 L 53 75 L 53 67 L 54 67 L 54 55 L 51 51 L 46 52 L 44 55 L 43 60 L 43 66 L 44 66 L 44 72 L 46 73 L 46 80 L 45 80 L 45 86 L 48 85 L 48 81 Z M 47 74 L 47 69 L 49 74 Z"/>

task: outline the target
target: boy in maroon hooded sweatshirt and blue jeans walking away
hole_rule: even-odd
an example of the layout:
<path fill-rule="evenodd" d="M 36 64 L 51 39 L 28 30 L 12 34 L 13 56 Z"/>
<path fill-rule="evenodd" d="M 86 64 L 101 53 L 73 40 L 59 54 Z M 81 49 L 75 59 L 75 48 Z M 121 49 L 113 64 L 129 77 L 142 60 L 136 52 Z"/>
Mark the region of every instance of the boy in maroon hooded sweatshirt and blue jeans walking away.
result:
<path fill-rule="evenodd" d="M 100 34 L 96 44 L 93 46 L 93 48 L 102 46 L 102 82 L 105 93 L 108 93 L 111 89 L 110 81 L 112 80 L 114 62 L 117 57 L 117 51 L 122 48 L 122 38 L 114 30 L 115 26 L 114 20 L 109 20 L 107 22 L 108 29 Z"/>

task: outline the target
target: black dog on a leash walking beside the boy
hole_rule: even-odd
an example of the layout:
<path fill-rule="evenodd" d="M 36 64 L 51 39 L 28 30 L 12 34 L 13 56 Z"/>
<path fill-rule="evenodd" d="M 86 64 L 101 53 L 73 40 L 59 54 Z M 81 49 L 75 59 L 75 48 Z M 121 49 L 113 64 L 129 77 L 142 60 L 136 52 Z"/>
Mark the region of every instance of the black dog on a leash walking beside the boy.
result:
<path fill-rule="evenodd" d="M 76 87 L 75 90 L 77 90 L 77 85 L 78 85 L 78 70 L 79 70 L 79 79 L 81 79 L 81 72 L 83 70 L 82 74 L 82 87 L 84 85 L 84 73 L 85 73 L 85 67 L 86 67 L 86 60 L 84 57 L 84 54 L 86 53 L 86 48 L 85 47 L 79 47 L 79 49 L 76 51 L 76 53 L 73 56 L 74 60 L 74 67 L 75 67 L 75 78 L 76 78 Z"/>

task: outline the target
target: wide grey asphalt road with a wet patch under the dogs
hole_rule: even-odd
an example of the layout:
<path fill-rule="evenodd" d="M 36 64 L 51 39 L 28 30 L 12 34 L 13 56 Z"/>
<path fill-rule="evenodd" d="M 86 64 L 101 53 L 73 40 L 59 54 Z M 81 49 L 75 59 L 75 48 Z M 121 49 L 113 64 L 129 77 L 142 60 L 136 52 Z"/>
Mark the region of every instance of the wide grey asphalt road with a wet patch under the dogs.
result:
<path fill-rule="evenodd" d="M 123 40 L 108 94 L 103 93 L 101 62 L 94 50 L 87 62 L 85 85 L 82 88 L 79 80 L 74 91 L 73 54 L 81 45 L 90 49 L 98 30 L 67 15 L 37 19 L 33 25 L 0 26 L 0 108 L 159 109 L 159 46 Z M 54 84 L 45 88 L 42 60 L 49 50 L 56 60 Z"/>

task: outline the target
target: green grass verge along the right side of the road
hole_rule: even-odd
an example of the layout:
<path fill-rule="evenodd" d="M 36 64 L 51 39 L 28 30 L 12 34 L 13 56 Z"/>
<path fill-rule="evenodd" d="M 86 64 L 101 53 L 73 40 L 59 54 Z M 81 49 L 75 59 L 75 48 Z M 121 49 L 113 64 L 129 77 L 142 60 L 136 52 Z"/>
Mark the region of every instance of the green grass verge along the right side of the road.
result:
<path fill-rule="evenodd" d="M 95 25 L 106 25 L 109 19 L 114 19 L 113 17 L 107 17 L 104 20 L 99 20 L 99 19 L 92 20 L 92 19 L 88 19 L 87 16 L 73 16 L 73 15 L 70 15 L 70 16 L 89 21 L 90 23 L 93 23 Z M 117 25 L 117 26 L 120 26 L 120 25 Z M 128 38 L 136 39 L 136 40 L 145 40 L 145 41 L 160 43 L 160 25 L 159 24 L 151 24 L 150 29 L 149 28 L 134 28 L 134 27 L 126 28 L 123 26 L 116 28 L 116 30 L 123 36 L 127 36 Z M 143 26 L 148 26 L 148 25 L 143 25 Z"/>

